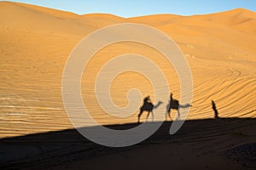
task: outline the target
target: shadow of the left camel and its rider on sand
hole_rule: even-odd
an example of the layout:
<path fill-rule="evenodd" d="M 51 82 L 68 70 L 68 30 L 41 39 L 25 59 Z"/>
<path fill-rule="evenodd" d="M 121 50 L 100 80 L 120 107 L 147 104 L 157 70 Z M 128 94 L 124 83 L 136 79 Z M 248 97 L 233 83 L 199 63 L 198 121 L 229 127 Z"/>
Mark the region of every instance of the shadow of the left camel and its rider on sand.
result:
<path fill-rule="evenodd" d="M 145 99 L 147 99 L 147 98 L 145 98 Z M 144 99 L 143 106 L 140 108 L 140 113 L 137 116 L 137 122 L 138 123 L 140 122 L 140 117 L 143 115 L 143 111 L 148 111 L 148 116 L 150 115 L 150 113 L 152 113 L 152 121 L 154 121 L 154 112 L 153 112 L 153 110 L 158 108 L 161 104 L 163 104 L 163 102 L 159 101 L 157 103 L 157 105 L 153 105 L 151 102 L 148 103 L 148 100 L 145 102 L 145 99 Z M 148 116 L 146 118 L 146 121 L 148 121 Z"/>

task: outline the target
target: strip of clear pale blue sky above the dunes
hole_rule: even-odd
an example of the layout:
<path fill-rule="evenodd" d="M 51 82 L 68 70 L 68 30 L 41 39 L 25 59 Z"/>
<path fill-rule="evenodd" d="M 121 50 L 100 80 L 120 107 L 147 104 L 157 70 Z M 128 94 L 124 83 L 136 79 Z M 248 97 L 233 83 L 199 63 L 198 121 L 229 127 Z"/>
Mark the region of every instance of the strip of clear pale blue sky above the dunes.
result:
<path fill-rule="evenodd" d="M 16 0 L 76 14 L 108 13 L 122 17 L 148 14 L 209 14 L 233 8 L 256 12 L 256 0 Z"/>

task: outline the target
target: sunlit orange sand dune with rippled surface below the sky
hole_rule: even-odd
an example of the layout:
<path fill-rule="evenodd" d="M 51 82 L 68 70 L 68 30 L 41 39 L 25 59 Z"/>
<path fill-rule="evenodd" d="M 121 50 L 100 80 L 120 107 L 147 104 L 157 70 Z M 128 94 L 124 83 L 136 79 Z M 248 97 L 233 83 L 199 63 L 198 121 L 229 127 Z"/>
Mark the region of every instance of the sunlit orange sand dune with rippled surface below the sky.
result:
<path fill-rule="evenodd" d="M 125 22 L 154 26 L 172 37 L 182 49 L 195 83 L 189 119 L 212 118 L 212 99 L 219 116 L 256 116 L 253 111 L 256 109 L 256 14 L 247 9 L 126 19 L 112 14 L 78 15 L 1 2 L 0 15 L 0 138 L 72 127 L 61 103 L 61 76 L 68 54 L 90 32 Z M 97 105 L 93 93 L 93 78 L 104 62 L 131 52 L 143 54 L 160 65 L 169 77 L 172 93 L 180 99 L 177 75 L 172 65 L 165 64 L 164 56 L 142 44 L 114 44 L 96 54 L 88 66 L 90 74 L 83 78 L 84 102 L 90 105 L 98 122 L 137 121 L 137 113 L 127 119 L 108 116 Z M 131 82 L 127 89 L 136 86 L 142 89 L 143 95 L 153 92 L 147 80 L 141 77 L 143 80 L 137 83 L 135 80 L 140 76 L 129 74 L 123 75 Z M 113 99 L 117 99 L 117 105 L 125 105 L 127 89 L 120 87 L 122 81 L 113 82 L 113 89 L 118 89 L 113 91 Z M 168 95 L 163 99 L 165 105 Z M 175 111 L 172 118 L 174 114 Z"/>

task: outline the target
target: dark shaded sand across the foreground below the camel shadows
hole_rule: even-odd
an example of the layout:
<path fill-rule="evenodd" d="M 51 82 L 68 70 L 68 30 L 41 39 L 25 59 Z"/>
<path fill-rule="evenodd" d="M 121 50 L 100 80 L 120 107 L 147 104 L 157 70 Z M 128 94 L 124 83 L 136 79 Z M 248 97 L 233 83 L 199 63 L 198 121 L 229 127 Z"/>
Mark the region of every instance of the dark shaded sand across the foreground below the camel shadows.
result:
<path fill-rule="evenodd" d="M 2 169 L 255 169 L 256 120 L 191 120 L 174 135 L 172 122 L 141 144 L 108 148 L 76 130 L 31 134 L 0 140 Z M 136 123 L 111 125 L 127 129 Z M 85 127 L 90 128 L 90 127 Z M 243 144 L 254 143 L 247 149 Z M 240 149 L 239 153 L 232 150 Z M 235 148 L 235 149 L 234 149 Z"/>

